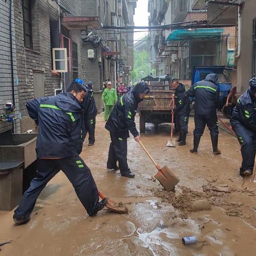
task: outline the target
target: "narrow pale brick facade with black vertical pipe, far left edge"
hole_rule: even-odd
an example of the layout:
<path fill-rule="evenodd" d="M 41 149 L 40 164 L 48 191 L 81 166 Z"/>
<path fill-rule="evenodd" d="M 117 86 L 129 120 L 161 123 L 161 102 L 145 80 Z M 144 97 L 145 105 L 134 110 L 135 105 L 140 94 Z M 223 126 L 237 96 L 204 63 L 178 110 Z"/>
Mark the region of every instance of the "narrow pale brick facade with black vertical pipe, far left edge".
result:
<path fill-rule="evenodd" d="M 13 128 L 20 132 L 20 120 L 7 122 L 4 118 L 6 103 L 15 106 L 11 114 L 19 116 L 19 97 L 17 78 L 17 50 L 15 44 L 14 12 L 12 1 L 1 1 L 0 4 L 0 133 Z"/>

